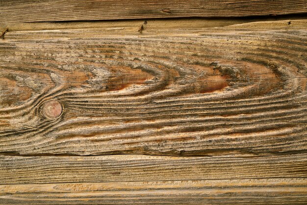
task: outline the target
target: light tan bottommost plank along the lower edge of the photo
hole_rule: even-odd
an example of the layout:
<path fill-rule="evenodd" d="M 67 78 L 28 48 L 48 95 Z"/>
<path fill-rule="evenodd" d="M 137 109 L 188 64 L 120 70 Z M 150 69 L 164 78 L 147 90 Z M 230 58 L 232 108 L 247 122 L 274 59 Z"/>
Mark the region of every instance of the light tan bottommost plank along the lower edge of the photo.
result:
<path fill-rule="evenodd" d="M 306 204 L 307 179 L 0 185 L 1 204 Z"/>

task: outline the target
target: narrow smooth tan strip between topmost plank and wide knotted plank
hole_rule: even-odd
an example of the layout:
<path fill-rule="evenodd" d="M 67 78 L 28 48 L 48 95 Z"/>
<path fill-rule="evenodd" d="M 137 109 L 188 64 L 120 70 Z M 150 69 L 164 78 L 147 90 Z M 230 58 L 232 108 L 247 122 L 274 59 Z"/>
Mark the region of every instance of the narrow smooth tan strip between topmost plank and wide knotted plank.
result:
<path fill-rule="evenodd" d="M 289 24 L 290 22 L 290 24 Z M 247 24 L 250 23 L 250 24 Z M 139 27 L 143 25 L 142 32 Z M 238 29 L 306 29 L 305 16 L 279 16 L 229 19 L 148 19 L 144 20 L 118 20 L 118 21 L 68 21 L 68 22 L 31 22 L 31 23 L 4 23 L 0 22 L 0 31 L 8 28 L 9 32 L 20 30 L 52 30 L 52 29 L 99 29 L 103 34 L 156 34 L 156 33 L 195 33 L 203 32 L 205 28 L 216 28 L 233 25 Z M 229 27 L 230 29 L 230 27 Z"/>

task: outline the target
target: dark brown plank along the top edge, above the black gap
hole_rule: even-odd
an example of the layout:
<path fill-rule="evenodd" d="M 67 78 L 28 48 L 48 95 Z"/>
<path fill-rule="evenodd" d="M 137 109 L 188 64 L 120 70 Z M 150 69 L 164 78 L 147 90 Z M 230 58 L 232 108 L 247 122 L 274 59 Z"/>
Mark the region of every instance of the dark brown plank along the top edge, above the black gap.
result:
<path fill-rule="evenodd" d="M 306 0 L 0 0 L 2 23 L 299 13 Z"/>

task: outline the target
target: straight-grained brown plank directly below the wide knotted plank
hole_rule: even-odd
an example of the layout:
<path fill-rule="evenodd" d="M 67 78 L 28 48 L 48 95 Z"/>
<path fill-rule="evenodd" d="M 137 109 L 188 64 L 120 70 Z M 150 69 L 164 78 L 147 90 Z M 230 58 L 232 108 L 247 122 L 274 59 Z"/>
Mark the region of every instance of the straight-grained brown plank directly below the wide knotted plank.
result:
<path fill-rule="evenodd" d="M 307 177 L 307 154 L 0 156 L 0 184 Z"/>

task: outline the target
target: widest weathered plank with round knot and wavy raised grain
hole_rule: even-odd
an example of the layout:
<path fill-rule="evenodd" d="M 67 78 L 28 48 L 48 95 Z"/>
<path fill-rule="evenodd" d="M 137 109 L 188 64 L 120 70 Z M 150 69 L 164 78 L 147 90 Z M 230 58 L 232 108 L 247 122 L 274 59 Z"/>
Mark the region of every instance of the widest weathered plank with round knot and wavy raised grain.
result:
<path fill-rule="evenodd" d="M 7 32 L 0 153 L 306 153 L 307 30 L 237 27 Z"/>

